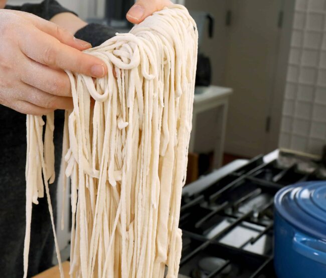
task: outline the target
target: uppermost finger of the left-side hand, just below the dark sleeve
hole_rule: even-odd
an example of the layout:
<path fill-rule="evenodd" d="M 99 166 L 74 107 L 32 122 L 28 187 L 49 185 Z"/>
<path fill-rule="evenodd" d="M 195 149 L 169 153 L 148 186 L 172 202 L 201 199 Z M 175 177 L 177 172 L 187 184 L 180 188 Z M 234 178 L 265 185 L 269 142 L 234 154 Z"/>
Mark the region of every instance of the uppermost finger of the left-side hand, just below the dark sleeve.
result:
<path fill-rule="evenodd" d="M 29 20 L 31 20 L 38 29 L 57 38 L 60 42 L 64 44 L 67 44 L 79 50 L 85 50 L 92 47 L 89 42 L 74 37 L 68 30 L 60 27 L 59 25 L 51 21 L 35 16 L 34 14 L 24 15 L 27 16 Z"/>

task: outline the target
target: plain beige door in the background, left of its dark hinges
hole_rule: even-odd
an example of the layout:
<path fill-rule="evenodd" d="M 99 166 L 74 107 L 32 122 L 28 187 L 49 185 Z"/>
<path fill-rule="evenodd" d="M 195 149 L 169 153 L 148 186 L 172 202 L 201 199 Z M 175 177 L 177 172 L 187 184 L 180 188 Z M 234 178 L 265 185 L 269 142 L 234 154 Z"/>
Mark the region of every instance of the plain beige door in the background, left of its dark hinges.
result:
<path fill-rule="evenodd" d="M 283 0 L 230 0 L 225 85 L 232 87 L 225 151 L 266 151 Z"/>

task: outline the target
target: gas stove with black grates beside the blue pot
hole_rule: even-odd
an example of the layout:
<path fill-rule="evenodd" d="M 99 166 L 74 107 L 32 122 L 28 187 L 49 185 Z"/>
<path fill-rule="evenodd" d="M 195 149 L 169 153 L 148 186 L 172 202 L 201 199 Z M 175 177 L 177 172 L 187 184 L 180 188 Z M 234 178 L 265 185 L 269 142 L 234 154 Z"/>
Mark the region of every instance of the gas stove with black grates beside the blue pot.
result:
<path fill-rule="evenodd" d="M 182 277 L 273 278 L 273 198 L 326 179 L 316 157 L 275 150 L 215 170 L 183 189 Z"/>

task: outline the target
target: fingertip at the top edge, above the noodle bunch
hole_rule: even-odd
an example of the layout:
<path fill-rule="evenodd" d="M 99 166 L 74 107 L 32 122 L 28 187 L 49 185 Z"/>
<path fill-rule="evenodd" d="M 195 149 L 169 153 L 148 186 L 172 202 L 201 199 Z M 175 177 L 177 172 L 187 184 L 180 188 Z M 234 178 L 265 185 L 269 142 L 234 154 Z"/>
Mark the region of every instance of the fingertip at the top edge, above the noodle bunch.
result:
<path fill-rule="evenodd" d="M 153 12 L 172 5 L 170 0 L 137 0 L 127 12 L 127 19 L 131 23 L 139 23 Z"/>

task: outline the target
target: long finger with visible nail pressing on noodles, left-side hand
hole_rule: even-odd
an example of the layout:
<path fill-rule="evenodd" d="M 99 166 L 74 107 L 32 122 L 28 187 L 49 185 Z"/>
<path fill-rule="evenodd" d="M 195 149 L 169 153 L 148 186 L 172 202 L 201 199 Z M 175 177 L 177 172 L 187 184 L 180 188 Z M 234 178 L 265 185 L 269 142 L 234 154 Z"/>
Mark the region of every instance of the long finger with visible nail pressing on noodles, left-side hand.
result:
<path fill-rule="evenodd" d="M 25 39 L 19 34 L 20 48 L 25 55 L 37 62 L 93 77 L 103 77 L 107 73 L 105 63 L 95 56 L 63 44 L 37 28 L 31 30 L 29 35 L 30 39 Z"/>

